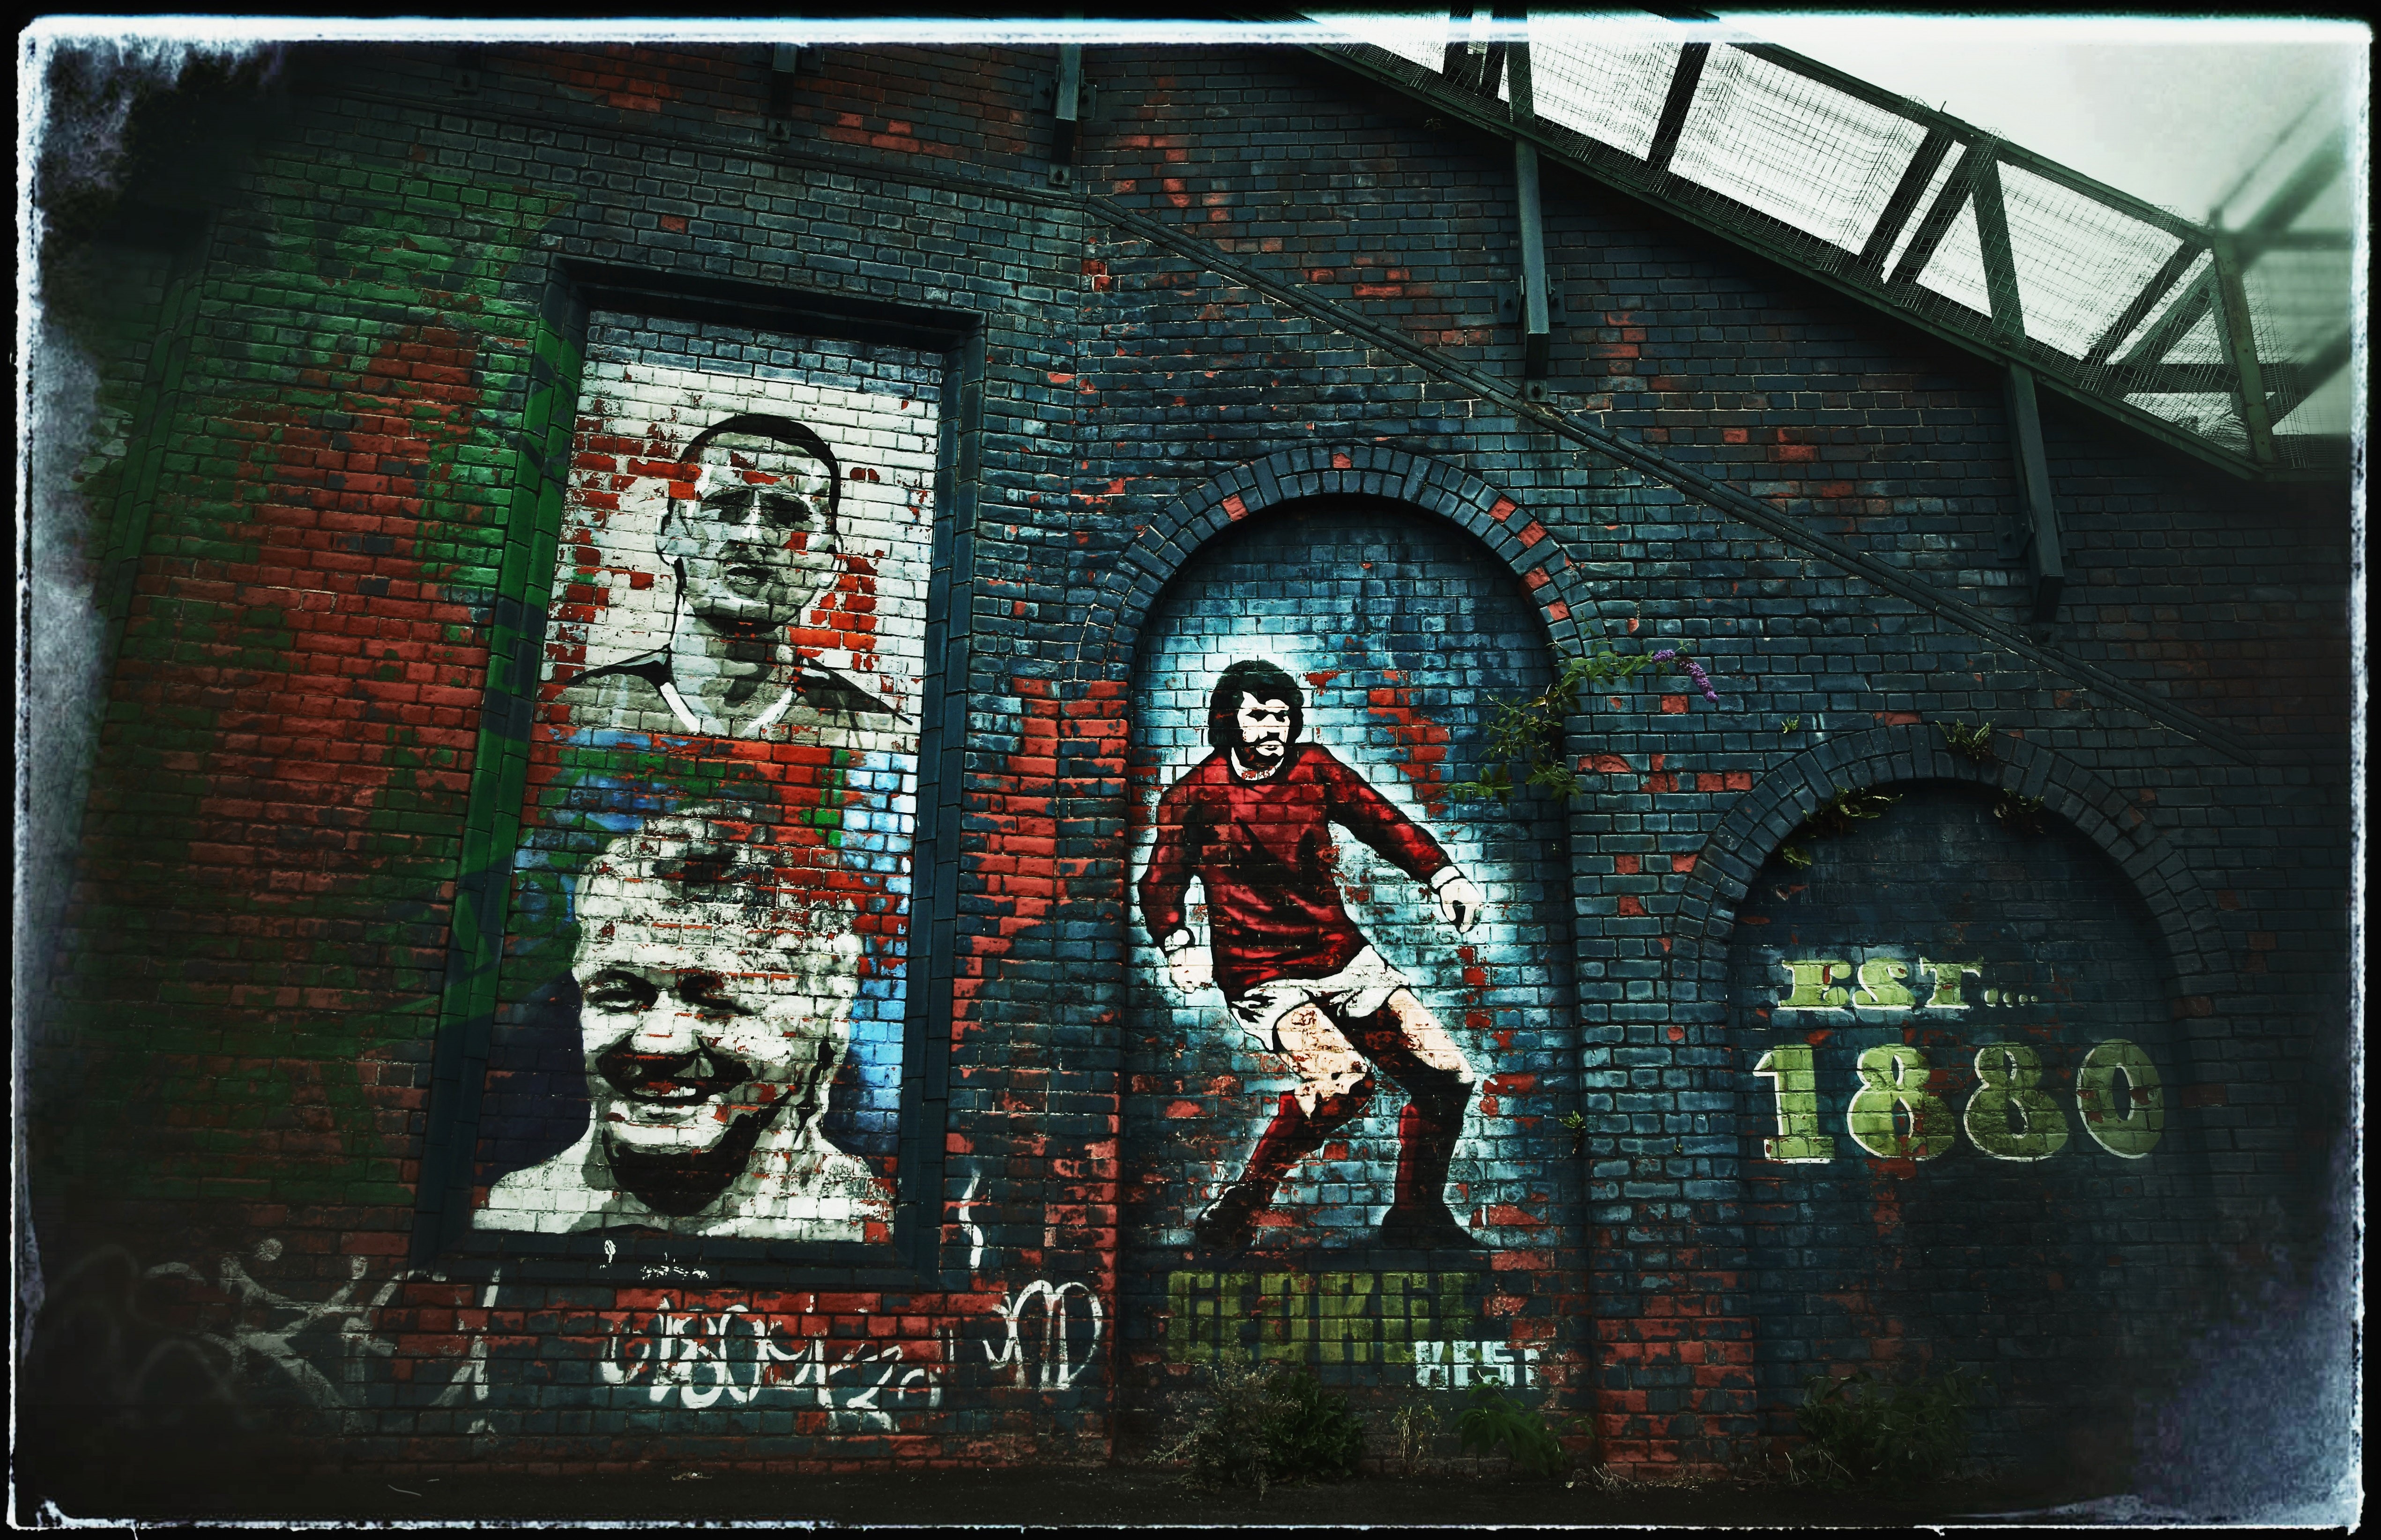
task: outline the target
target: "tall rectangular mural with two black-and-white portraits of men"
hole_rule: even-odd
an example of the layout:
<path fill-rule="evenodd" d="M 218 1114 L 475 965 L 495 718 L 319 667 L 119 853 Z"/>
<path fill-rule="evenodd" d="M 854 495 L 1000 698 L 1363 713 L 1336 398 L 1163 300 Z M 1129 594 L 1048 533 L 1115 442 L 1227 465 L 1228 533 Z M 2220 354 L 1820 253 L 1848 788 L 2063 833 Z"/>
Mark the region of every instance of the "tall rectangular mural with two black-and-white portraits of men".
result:
<path fill-rule="evenodd" d="M 888 1235 L 938 395 L 590 317 L 476 1228 Z"/>

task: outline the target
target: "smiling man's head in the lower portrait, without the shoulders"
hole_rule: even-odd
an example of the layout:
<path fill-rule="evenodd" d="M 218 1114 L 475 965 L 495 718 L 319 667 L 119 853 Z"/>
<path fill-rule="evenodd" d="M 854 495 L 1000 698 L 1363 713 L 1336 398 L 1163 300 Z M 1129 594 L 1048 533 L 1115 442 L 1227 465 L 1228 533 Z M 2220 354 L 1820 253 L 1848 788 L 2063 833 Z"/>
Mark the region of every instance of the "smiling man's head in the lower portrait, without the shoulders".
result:
<path fill-rule="evenodd" d="M 826 1112 L 860 938 L 781 890 L 769 847 L 712 814 L 614 840 L 579 890 L 581 1043 L 614 1178 L 690 1214 L 762 1135 Z"/>

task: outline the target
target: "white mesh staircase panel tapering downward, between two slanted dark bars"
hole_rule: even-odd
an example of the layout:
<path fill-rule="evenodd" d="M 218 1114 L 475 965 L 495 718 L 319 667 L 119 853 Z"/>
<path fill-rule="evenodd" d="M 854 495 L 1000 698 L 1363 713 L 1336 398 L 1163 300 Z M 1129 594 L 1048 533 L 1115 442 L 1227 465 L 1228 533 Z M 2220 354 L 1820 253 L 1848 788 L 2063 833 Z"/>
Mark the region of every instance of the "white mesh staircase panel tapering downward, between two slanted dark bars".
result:
<path fill-rule="evenodd" d="M 2026 336 L 2081 359 L 2181 236 L 2024 167 L 2000 169 Z"/>

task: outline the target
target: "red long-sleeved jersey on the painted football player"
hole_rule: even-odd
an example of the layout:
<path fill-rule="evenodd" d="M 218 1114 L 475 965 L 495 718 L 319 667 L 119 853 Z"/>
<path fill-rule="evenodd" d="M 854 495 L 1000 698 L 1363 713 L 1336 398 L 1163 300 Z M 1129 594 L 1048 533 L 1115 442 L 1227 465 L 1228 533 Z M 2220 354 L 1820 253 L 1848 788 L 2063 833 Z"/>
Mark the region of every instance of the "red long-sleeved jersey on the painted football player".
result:
<path fill-rule="evenodd" d="M 1226 997 L 1267 978 L 1338 974 L 1364 950 L 1364 933 L 1341 902 L 1331 824 L 1412 878 L 1448 866 L 1438 840 L 1331 750 L 1293 743 L 1264 781 L 1243 781 L 1217 750 L 1157 802 L 1157 847 L 1140 874 L 1143 924 L 1155 940 L 1181 928 L 1198 876 Z"/>

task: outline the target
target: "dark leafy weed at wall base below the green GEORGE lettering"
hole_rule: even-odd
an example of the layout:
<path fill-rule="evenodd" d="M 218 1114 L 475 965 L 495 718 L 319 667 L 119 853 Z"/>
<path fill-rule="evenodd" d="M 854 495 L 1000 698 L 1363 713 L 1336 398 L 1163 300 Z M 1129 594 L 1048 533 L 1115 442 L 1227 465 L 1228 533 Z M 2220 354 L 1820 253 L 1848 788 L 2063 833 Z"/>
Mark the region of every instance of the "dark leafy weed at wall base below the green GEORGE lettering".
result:
<path fill-rule="evenodd" d="M 1160 1452 L 1205 1488 L 1257 1488 L 1276 1480 L 1341 1480 L 1364 1457 L 1364 1423 L 1348 1400 L 1324 1390 L 1307 1369 L 1250 1364 L 1226 1347 L 1207 1371 L 1190 1426 Z"/>

